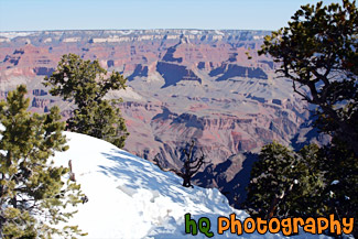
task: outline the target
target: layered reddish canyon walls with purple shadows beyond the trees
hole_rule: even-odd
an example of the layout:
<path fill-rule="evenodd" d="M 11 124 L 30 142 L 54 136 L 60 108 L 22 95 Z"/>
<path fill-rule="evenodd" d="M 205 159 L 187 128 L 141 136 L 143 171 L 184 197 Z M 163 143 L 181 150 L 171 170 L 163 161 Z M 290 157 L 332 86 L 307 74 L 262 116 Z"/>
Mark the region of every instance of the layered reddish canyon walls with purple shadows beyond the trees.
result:
<path fill-rule="evenodd" d="M 181 167 L 181 149 L 195 139 L 210 161 L 197 183 L 226 191 L 231 185 L 228 182 L 237 184 L 232 178 L 245 159 L 253 159 L 235 155 L 257 152 L 273 140 L 289 144 L 294 139 L 295 145 L 302 145 L 306 140 L 302 132 L 312 139 L 315 135 L 310 131 L 306 106 L 293 94 L 292 84 L 276 77 L 271 58 L 257 54 L 267 34 L 270 32 L 4 32 L 0 33 L 0 97 L 15 85 L 26 84 L 33 111 L 59 105 L 66 118 L 73 106 L 48 95 L 42 79 L 55 70 L 63 54 L 98 58 L 109 72 L 118 70 L 128 78 L 128 90 L 109 95 L 124 99 L 121 108 L 131 133 L 126 150 L 149 160 L 158 155 L 163 165 Z M 208 181 L 209 172 L 221 176 Z M 223 181 L 223 175 L 232 178 Z"/>

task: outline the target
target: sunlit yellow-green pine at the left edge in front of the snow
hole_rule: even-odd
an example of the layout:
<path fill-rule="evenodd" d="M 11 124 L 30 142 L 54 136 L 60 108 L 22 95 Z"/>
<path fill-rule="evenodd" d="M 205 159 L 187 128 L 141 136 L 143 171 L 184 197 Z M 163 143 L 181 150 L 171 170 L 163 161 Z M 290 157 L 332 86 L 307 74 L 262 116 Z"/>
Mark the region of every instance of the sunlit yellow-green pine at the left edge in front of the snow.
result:
<path fill-rule="evenodd" d="M 0 237 L 51 238 L 62 235 L 58 222 L 75 213 L 65 208 L 80 203 L 82 193 L 79 185 L 63 182 L 68 169 L 48 160 L 67 150 L 59 109 L 31 115 L 25 94 L 21 85 L 0 101 Z M 68 237 L 80 233 L 73 229 Z"/>

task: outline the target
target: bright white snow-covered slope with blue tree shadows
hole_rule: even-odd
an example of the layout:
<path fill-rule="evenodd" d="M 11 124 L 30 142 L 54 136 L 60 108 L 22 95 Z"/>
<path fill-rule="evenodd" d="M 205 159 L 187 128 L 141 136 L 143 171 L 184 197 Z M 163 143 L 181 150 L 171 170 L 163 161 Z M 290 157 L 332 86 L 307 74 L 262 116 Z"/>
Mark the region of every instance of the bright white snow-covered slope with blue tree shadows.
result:
<path fill-rule="evenodd" d="M 213 238 L 289 238 L 282 235 L 257 232 L 250 235 L 217 233 L 217 217 L 235 213 L 243 220 L 242 210 L 231 208 L 217 189 L 185 188 L 182 180 L 162 172 L 152 163 L 119 150 L 105 141 L 66 132 L 69 150 L 56 153 L 56 164 L 72 160 L 76 181 L 88 196 L 78 206 L 70 225 L 88 232 L 86 238 L 206 238 L 185 233 L 184 215 L 196 220 L 211 221 Z M 300 233 L 291 238 L 328 238 Z"/>

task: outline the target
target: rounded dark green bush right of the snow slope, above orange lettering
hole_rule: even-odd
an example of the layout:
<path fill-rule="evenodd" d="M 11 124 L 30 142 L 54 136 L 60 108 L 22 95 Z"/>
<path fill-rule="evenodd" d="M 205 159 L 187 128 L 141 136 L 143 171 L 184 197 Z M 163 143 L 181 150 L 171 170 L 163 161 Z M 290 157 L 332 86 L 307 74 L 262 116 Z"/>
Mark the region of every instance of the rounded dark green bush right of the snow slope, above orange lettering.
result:
<path fill-rule="evenodd" d="M 318 148 L 295 153 L 273 142 L 262 148 L 251 171 L 246 207 L 263 218 L 319 215 L 324 178 L 317 171 Z"/>

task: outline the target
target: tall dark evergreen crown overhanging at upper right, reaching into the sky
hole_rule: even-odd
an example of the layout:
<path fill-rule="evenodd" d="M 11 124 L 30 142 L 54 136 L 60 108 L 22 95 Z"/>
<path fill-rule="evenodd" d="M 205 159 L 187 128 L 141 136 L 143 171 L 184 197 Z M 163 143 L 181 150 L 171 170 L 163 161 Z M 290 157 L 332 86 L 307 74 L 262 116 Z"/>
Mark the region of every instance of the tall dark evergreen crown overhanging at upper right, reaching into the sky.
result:
<path fill-rule="evenodd" d="M 303 6 L 289 26 L 265 37 L 259 51 L 280 62 L 278 72 L 293 80 L 294 91 L 318 106 L 317 127 L 346 142 L 356 155 L 357 23 L 355 1 L 344 0 L 343 6 Z"/>

